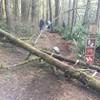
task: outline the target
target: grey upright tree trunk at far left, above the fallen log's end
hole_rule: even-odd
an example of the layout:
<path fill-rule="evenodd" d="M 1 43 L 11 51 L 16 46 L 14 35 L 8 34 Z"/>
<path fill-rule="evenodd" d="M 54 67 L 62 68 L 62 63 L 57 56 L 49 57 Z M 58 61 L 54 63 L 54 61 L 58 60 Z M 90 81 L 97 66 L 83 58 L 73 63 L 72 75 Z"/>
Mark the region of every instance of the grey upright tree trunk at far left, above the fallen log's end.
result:
<path fill-rule="evenodd" d="M 5 0 L 5 10 L 6 10 L 6 23 L 8 25 L 8 29 L 11 29 L 10 0 Z"/>

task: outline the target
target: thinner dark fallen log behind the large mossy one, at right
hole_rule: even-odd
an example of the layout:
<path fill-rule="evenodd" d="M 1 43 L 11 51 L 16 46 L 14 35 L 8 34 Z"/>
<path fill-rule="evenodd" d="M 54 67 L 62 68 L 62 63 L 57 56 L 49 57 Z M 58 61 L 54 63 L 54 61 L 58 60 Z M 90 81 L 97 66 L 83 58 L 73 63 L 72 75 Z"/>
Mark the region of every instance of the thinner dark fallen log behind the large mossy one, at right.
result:
<path fill-rule="evenodd" d="M 57 59 L 59 59 L 59 60 L 61 60 L 61 61 L 66 61 L 66 62 L 70 62 L 70 63 L 72 63 L 72 64 L 75 64 L 77 61 L 75 61 L 75 60 L 71 60 L 71 59 L 68 59 L 68 58 L 66 58 L 66 57 L 64 57 L 64 56 L 61 56 L 61 55 L 58 55 L 58 54 L 52 54 L 51 52 L 48 52 L 48 51 L 46 51 L 46 50 L 42 50 L 43 52 L 45 52 L 45 53 L 47 53 L 47 54 L 49 54 L 49 55 L 52 55 L 53 57 L 55 57 L 55 58 L 57 58 Z M 84 68 L 90 68 L 90 69 L 93 69 L 93 70 L 96 70 L 97 72 L 100 72 L 100 67 L 99 66 L 96 66 L 96 65 L 89 65 L 89 64 L 86 64 L 85 62 L 83 62 L 83 61 L 79 61 L 78 63 L 77 63 L 78 65 L 81 65 L 82 67 L 84 67 Z"/>

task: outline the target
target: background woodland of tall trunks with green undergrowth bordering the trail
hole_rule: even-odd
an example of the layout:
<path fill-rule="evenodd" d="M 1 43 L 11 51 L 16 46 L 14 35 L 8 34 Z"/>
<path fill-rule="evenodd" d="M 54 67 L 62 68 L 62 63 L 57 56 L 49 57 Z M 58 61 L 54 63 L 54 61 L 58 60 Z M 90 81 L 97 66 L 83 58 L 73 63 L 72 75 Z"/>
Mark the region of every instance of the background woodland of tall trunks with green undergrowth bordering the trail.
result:
<path fill-rule="evenodd" d="M 31 37 L 38 33 L 40 19 L 50 20 L 53 31 L 64 39 L 75 40 L 80 54 L 89 25 L 96 23 L 96 45 L 100 45 L 100 0 L 0 0 L 0 28 L 4 30 Z"/>

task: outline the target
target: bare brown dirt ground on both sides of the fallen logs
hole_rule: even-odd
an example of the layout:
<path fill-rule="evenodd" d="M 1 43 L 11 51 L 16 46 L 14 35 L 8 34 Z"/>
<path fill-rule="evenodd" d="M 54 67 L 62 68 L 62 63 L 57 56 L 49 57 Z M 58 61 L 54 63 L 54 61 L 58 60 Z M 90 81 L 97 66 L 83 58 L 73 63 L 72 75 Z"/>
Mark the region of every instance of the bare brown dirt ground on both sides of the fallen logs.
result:
<path fill-rule="evenodd" d="M 74 58 L 69 45 L 58 34 L 48 33 L 46 36 L 48 39 L 45 35 L 40 38 L 38 47 L 58 46 L 62 54 Z M 0 46 L 0 64 L 3 66 L 18 64 L 28 54 L 10 44 L 7 47 Z M 31 62 L 0 69 L 0 100 L 100 100 L 100 95 L 75 81 L 54 75 L 46 66 Z"/>

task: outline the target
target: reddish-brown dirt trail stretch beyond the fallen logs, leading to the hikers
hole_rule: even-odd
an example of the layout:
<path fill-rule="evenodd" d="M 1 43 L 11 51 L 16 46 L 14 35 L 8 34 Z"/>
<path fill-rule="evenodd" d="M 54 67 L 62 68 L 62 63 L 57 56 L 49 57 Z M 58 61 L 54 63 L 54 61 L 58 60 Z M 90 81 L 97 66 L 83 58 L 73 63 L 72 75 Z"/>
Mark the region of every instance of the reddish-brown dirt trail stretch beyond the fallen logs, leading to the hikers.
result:
<path fill-rule="evenodd" d="M 38 40 L 36 47 L 50 49 L 54 46 L 59 47 L 61 54 L 68 58 L 74 58 L 73 50 L 71 49 L 72 42 L 65 41 L 58 33 L 43 33 Z"/>

